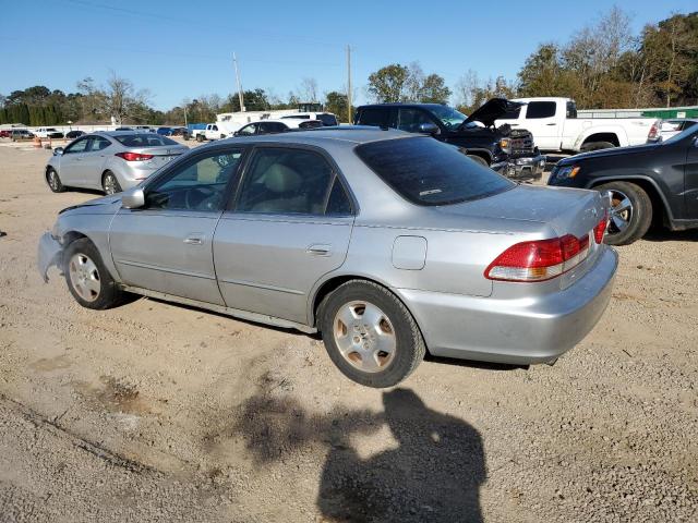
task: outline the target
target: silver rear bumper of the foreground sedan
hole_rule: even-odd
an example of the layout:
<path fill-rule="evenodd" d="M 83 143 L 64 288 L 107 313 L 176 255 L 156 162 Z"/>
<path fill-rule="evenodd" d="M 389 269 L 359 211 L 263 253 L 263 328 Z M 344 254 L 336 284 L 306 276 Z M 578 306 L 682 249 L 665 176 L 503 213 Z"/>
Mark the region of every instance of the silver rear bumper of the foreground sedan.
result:
<path fill-rule="evenodd" d="M 594 327 L 611 299 L 617 263 L 616 252 L 604 248 L 575 284 L 540 299 L 397 292 L 433 355 L 519 365 L 546 363 L 574 348 Z"/>

